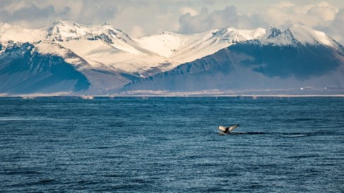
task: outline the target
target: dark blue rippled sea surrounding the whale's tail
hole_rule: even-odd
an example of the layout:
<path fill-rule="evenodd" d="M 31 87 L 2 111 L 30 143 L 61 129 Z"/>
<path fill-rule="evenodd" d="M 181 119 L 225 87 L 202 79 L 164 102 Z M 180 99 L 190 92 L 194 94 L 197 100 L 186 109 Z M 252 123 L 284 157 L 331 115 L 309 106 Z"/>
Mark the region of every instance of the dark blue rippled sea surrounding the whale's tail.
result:
<path fill-rule="evenodd" d="M 344 98 L 0 98 L 0 192 L 343 191 Z"/>

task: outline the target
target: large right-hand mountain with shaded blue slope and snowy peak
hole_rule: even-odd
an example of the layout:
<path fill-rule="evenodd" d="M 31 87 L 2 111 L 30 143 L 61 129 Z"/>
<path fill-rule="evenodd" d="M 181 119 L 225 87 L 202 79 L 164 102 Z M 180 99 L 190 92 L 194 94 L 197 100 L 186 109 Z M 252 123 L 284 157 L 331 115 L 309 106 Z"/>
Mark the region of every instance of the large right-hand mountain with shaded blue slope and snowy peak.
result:
<path fill-rule="evenodd" d="M 131 82 L 123 90 L 206 89 L 250 94 L 343 94 L 344 48 L 323 32 L 301 25 L 283 32 L 268 28 L 261 39 L 233 44 L 165 73 Z"/>

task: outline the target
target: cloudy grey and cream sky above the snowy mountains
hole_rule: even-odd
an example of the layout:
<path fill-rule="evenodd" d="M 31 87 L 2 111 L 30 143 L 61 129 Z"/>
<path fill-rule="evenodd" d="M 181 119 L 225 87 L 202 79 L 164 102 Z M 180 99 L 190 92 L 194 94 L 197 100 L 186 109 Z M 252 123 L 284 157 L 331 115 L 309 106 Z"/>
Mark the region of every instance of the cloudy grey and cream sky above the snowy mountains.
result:
<path fill-rule="evenodd" d="M 0 23 L 40 28 L 70 19 L 109 23 L 131 37 L 163 31 L 191 34 L 235 27 L 278 27 L 293 23 L 321 30 L 344 44 L 343 0 L 1 0 Z"/>

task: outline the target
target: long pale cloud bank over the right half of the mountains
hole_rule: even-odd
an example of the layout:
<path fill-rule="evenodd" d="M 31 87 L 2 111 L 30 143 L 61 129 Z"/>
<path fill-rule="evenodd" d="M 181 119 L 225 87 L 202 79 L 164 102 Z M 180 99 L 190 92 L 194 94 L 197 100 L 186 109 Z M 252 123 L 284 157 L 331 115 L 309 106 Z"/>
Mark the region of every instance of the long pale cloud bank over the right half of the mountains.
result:
<path fill-rule="evenodd" d="M 343 9 L 328 2 L 280 1 L 263 8 L 242 12 L 235 6 L 209 11 L 203 8 L 196 15 L 185 13 L 179 19 L 179 32 L 203 32 L 212 28 L 232 26 L 237 28 L 279 27 L 282 30 L 292 23 L 299 23 L 318 30 L 324 30 L 344 42 Z M 343 17 L 343 19 L 341 18 Z M 342 43 L 343 43 L 342 42 Z"/>

